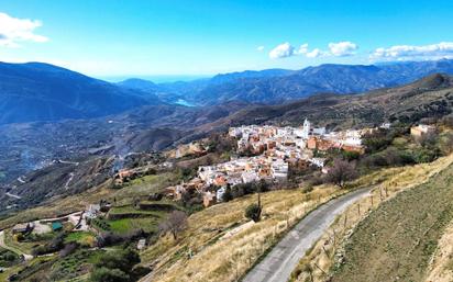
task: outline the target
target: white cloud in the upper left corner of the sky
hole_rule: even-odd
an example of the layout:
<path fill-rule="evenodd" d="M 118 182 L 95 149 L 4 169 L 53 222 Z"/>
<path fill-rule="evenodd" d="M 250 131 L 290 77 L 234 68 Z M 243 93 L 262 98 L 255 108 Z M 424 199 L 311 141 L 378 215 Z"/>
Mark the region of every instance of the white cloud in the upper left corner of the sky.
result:
<path fill-rule="evenodd" d="M 41 21 L 12 18 L 0 12 L 0 46 L 19 47 L 19 42 L 48 41 L 47 37 L 34 33 L 40 26 Z"/>

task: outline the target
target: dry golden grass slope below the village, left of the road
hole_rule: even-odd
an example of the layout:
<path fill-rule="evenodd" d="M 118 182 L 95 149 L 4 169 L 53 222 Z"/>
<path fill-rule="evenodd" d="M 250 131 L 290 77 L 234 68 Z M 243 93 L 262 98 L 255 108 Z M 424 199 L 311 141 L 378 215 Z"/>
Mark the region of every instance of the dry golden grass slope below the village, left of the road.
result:
<path fill-rule="evenodd" d="M 401 184 L 413 177 L 406 168 L 385 169 L 360 178 L 350 187 L 395 182 L 396 176 Z M 154 269 L 142 281 L 236 281 L 310 210 L 344 192 L 322 185 L 309 193 L 301 189 L 264 193 L 264 218 L 256 224 L 247 223 L 243 215 L 256 195 L 196 213 L 178 241 L 163 237 L 142 253 L 144 264 Z"/>

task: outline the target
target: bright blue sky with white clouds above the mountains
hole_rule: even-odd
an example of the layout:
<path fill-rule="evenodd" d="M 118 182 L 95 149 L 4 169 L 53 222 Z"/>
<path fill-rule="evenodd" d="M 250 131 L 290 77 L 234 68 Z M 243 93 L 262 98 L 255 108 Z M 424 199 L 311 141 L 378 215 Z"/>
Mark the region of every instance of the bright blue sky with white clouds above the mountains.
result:
<path fill-rule="evenodd" d="M 453 57 L 452 19 L 451 0 L 2 0 L 0 60 L 114 77 L 432 59 Z"/>

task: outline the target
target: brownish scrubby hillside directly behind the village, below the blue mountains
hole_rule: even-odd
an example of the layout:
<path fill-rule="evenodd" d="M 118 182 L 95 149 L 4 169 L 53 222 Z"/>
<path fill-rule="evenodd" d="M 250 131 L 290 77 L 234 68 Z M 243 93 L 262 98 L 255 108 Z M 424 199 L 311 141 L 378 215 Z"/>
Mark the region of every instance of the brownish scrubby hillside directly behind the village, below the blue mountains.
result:
<path fill-rule="evenodd" d="M 423 117 L 452 113 L 453 80 L 432 75 L 416 82 L 364 94 L 318 94 L 281 105 L 255 105 L 237 111 L 200 129 L 243 123 L 300 125 L 307 117 L 329 128 L 375 125 L 383 122 L 415 123 Z"/>

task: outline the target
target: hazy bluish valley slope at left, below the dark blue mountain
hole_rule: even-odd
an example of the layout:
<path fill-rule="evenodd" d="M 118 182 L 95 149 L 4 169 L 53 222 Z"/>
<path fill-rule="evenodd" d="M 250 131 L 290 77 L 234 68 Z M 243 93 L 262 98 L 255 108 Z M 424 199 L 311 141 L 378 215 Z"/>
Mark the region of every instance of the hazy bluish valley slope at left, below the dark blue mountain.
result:
<path fill-rule="evenodd" d="M 0 125 L 0 183 L 57 158 L 162 150 L 178 140 L 206 136 L 195 128 L 244 106 L 233 102 L 208 109 L 147 105 L 100 119 Z"/>

